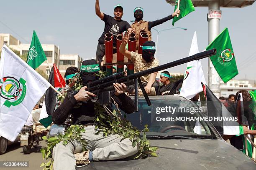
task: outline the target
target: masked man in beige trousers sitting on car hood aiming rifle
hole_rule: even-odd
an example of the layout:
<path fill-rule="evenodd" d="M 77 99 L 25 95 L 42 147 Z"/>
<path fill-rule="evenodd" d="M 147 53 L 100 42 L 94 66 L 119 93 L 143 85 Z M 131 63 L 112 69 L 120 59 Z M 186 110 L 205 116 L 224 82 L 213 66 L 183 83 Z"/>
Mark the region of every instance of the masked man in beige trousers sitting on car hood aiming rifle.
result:
<path fill-rule="evenodd" d="M 96 60 L 83 61 L 79 75 L 83 86 L 87 85 L 88 82 L 98 80 L 99 71 L 99 65 Z M 126 90 L 125 84 L 114 83 L 113 86 L 115 91 L 111 92 L 112 100 L 117 102 L 118 107 L 127 114 L 134 112 L 133 101 L 124 94 Z M 84 125 L 85 133 L 81 135 L 88 143 L 86 149 L 89 151 L 85 154 L 88 160 L 116 160 L 138 153 L 138 146 L 133 148 L 129 138 L 120 142 L 123 138 L 122 135 L 113 134 L 105 137 L 102 131 L 96 134 L 98 131 L 97 129 L 95 130 L 94 123 L 95 103 L 91 100 L 91 97 L 95 97 L 95 94 L 88 92 L 86 86 L 82 87 L 75 95 L 69 93 L 70 91 L 71 89 L 67 91 L 64 101 L 54 111 L 52 120 L 55 124 L 62 124 L 68 115 L 72 114 L 74 117 L 73 124 Z M 78 103 L 81 103 L 79 107 L 77 107 Z M 111 106 L 108 106 L 108 108 L 111 109 Z M 78 142 L 69 142 L 67 145 L 63 145 L 62 142 L 58 143 L 53 150 L 54 170 L 75 170 L 76 160 L 74 153 L 81 152 L 82 145 Z"/>

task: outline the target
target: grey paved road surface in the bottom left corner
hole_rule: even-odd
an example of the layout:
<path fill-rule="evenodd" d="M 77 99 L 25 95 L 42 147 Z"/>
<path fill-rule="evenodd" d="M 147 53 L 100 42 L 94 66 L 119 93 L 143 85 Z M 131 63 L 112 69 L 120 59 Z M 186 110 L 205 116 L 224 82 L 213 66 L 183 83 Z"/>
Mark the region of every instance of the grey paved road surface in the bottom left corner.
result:
<path fill-rule="evenodd" d="M 20 143 L 9 145 L 7 152 L 0 155 L 0 161 L 29 161 L 29 168 L 0 168 L 0 170 L 42 170 L 41 163 L 46 162 L 40 153 L 41 147 L 45 147 L 44 140 L 40 141 L 38 148 L 32 148 L 31 154 L 23 154 Z"/>

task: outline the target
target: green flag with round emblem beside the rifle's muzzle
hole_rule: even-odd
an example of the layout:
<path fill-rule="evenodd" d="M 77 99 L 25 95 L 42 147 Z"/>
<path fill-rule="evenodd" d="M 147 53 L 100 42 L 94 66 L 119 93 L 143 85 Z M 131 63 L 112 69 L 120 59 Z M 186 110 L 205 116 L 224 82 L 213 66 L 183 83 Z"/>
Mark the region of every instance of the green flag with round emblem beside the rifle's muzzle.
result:
<path fill-rule="evenodd" d="M 215 70 L 220 75 L 220 78 L 224 83 L 238 75 L 236 67 L 235 55 L 233 52 L 232 44 L 230 41 L 228 28 L 225 28 L 216 38 L 213 40 L 206 50 L 215 48 L 217 50 L 216 55 L 210 57 Z"/>

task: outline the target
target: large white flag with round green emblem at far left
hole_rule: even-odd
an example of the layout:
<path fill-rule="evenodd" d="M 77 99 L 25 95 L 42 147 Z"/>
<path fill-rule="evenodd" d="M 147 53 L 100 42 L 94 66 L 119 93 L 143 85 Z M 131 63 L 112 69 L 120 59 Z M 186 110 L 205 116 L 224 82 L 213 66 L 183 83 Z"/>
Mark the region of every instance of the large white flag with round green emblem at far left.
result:
<path fill-rule="evenodd" d="M 0 135 L 14 141 L 50 83 L 6 45 L 0 61 Z"/>

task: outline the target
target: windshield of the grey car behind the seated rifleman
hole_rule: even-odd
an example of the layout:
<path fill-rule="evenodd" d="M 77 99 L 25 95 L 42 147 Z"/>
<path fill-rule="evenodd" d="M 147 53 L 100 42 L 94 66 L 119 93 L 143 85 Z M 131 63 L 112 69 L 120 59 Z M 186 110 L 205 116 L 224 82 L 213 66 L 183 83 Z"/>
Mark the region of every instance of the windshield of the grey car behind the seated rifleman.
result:
<path fill-rule="evenodd" d="M 148 125 L 148 138 L 217 139 L 212 126 L 203 119 L 202 107 L 179 96 L 149 97 L 151 106 L 147 105 L 144 97 L 140 97 L 138 112 L 126 115 L 140 130 Z"/>

